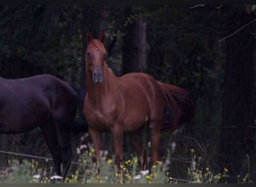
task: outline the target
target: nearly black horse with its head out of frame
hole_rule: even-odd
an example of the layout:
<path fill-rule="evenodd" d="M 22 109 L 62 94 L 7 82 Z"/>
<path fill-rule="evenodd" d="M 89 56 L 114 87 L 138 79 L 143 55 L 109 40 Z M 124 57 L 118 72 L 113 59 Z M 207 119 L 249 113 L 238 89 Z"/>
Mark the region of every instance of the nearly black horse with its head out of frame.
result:
<path fill-rule="evenodd" d="M 65 177 L 72 159 L 70 131 L 79 96 L 79 89 L 51 75 L 0 77 L 0 133 L 39 127 L 52 154 L 55 173 Z"/>

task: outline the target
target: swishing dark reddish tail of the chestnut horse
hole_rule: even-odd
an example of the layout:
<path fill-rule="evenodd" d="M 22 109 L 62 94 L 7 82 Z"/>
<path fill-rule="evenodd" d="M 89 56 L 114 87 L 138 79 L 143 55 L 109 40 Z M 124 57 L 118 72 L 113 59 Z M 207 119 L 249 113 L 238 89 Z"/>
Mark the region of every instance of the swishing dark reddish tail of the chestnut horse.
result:
<path fill-rule="evenodd" d="M 165 116 L 162 132 L 170 132 L 192 121 L 194 102 L 189 92 L 183 88 L 158 82 L 165 96 Z"/>

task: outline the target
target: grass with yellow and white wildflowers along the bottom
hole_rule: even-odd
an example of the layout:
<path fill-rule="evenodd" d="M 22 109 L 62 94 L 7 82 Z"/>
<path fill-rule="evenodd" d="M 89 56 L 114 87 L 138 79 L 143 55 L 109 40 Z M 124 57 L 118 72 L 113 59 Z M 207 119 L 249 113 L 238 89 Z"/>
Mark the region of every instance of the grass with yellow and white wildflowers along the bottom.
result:
<path fill-rule="evenodd" d="M 94 149 L 80 150 L 77 161 L 80 165 L 72 165 L 68 177 L 63 181 L 53 175 L 49 169 L 31 160 L 20 163 L 13 159 L 10 170 L 1 171 L 0 183 L 225 183 L 228 169 L 222 173 L 214 173 L 210 168 L 201 168 L 202 158 L 191 150 L 190 165 L 187 168 L 186 179 L 172 176 L 170 154 L 162 162 L 153 165 L 150 171 L 139 171 L 138 158 L 127 159 L 121 166 L 121 174 L 114 164 L 114 158 L 109 159 L 108 153 L 103 152 L 100 162 L 92 161 Z M 100 172 L 98 172 L 100 171 Z M 246 181 L 241 181 L 246 183 Z"/>

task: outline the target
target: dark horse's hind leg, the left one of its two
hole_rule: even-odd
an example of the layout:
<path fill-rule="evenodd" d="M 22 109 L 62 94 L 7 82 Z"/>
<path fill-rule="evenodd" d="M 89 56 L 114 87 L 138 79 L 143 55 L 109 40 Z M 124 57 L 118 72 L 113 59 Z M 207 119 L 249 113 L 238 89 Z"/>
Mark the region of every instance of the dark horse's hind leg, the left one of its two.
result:
<path fill-rule="evenodd" d="M 46 122 L 43 126 L 40 126 L 43 134 L 43 138 L 46 141 L 54 163 L 55 173 L 61 175 L 61 148 L 58 144 L 57 132 L 55 129 L 55 123 L 53 120 Z"/>

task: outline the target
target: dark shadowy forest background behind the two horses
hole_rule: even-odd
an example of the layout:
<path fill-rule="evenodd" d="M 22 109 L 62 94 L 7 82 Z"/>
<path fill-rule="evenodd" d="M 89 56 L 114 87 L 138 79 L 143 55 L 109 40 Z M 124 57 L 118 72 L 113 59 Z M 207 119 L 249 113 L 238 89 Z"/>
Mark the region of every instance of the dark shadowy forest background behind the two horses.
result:
<path fill-rule="evenodd" d="M 163 136 L 163 153 L 176 142 L 171 172 L 185 177 L 193 149 L 201 168 L 255 181 L 255 13 L 252 4 L 1 5 L 0 76 L 49 73 L 85 88 L 85 33 L 104 30 L 117 76 L 144 72 L 192 94 L 192 126 Z M 38 137 L 37 130 L 1 135 L 0 149 L 46 156 Z"/>

